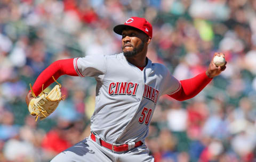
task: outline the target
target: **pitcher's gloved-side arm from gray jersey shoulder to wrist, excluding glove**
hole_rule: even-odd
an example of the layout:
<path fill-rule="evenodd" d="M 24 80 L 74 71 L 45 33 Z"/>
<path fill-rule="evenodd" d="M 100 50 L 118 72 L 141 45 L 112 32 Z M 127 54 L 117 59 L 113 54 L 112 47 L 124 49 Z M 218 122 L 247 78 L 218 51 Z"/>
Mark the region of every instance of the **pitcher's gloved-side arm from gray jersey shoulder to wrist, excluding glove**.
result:
<path fill-rule="evenodd" d="M 70 76 L 94 76 L 103 77 L 106 72 L 106 57 L 105 56 L 86 56 L 79 58 L 61 59 L 53 62 L 48 66 L 36 79 L 32 89 L 35 96 L 38 96 L 42 91 L 54 82 L 52 76 L 57 80 L 61 75 Z M 44 86 L 43 86 L 44 85 Z M 26 96 L 27 105 L 33 99 L 31 92 Z"/>

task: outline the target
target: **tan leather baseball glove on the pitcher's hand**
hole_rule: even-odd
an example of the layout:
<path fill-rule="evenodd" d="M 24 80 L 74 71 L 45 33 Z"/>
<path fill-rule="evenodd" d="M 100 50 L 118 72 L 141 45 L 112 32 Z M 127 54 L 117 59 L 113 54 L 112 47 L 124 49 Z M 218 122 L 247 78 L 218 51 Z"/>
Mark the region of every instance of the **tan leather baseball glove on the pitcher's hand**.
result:
<path fill-rule="evenodd" d="M 52 78 L 55 82 L 57 82 L 53 76 Z M 42 86 L 42 92 L 39 97 L 36 97 L 30 84 L 31 93 L 34 98 L 30 100 L 28 110 L 30 115 L 36 116 L 36 121 L 38 117 L 40 120 L 43 120 L 52 114 L 58 107 L 60 101 L 64 99 L 64 96 L 61 96 L 60 83 L 58 83 L 58 85 L 56 85 L 49 93 L 43 92 L 43 87 L 44 85 Z"/>

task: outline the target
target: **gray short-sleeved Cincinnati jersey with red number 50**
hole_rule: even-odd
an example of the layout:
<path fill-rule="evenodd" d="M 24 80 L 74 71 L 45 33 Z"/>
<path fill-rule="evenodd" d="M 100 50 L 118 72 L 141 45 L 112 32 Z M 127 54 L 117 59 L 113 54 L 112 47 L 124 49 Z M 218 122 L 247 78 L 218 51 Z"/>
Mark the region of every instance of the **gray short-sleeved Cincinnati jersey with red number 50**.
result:
<path fill-rule="evenodd" d="M 91 130 L 109 143 L 144 142 L 159 97 L 181 88 L 164 65 L 148 59 L 141 71 L 123 53 L 75 58 L 74 67 L 97 81 Z"/>

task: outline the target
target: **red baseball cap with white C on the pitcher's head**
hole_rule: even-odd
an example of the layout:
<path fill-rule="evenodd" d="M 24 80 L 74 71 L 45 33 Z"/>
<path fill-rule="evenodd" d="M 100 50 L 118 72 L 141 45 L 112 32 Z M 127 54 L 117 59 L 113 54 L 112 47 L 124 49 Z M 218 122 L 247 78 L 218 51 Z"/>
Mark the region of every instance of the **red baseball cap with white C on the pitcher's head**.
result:
<path fill-rule="evenodd" d="M 145 18 L 131 17 L 127 19 L 124 24 L 116 25 L 113 30 L 118 35 L 122 35 L 122 31 L 126 27 L 133 27 L 133 28 L 139 29 L 145 32 L 146 35 L 152 38 L 152 33 L 153 33 L 152 25 Z"/>

